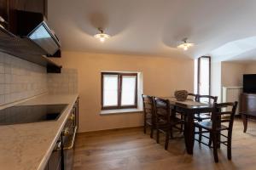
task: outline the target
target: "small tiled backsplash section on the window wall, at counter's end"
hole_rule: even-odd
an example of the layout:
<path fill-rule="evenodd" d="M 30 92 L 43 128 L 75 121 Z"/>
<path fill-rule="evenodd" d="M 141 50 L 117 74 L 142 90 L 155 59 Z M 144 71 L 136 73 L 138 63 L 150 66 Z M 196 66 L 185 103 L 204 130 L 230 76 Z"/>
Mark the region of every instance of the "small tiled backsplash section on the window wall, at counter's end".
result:
<path fill-rule="evenodd" d="M 78 93 L 78 71 L 76 69 L 61 69 L 61 74 L 48 75 L 49 94 Z"/>

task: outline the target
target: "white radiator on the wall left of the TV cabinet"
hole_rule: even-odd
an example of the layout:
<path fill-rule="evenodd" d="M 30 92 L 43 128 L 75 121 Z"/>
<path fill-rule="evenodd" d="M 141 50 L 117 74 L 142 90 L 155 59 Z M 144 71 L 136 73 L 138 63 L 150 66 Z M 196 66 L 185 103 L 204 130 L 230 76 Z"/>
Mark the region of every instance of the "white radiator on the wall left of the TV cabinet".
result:
<path fill-rule="evenodd" d="M 222 102 L 235 102 L 240 99 L 242 87 L 223 87 L 222 88 Z M 236 114 L 239 112 L 239 105 L 237 105 Z"/>

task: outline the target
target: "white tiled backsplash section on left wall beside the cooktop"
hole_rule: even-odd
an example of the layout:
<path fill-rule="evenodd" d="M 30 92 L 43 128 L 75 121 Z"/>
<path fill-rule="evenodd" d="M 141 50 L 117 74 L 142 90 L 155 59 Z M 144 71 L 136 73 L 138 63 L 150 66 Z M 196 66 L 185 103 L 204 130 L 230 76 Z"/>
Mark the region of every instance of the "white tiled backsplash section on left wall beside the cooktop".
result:
<path fill-rule="evenodd" d="M 0 105 L 47 92 L 46 69 L 0 53 Z"/>

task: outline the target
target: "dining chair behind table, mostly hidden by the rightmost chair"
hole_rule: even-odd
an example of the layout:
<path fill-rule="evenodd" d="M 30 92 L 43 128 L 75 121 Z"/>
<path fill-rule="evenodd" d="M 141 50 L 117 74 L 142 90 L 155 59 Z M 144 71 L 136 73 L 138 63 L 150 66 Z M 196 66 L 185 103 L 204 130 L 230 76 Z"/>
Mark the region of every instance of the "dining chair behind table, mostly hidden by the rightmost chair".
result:
<path fill-rule="evenodd" d="M 218 97 L 217 96 L 211 96 L 211 95 L 198 95 L 197 101 L 203 102 L 202 100 L 205 99 L 207 102 L 211 103 L 212 105 L 217 102 Z M 195 115 L 195 121 L 202 122 L 204 120 L 210 120 L 211 119 L 211 113 L 200 113 Z M 201 128 L 198 129 L 201 132 Z M 201 133 L 199 133 L 199 140 L 201 141 Z"/>

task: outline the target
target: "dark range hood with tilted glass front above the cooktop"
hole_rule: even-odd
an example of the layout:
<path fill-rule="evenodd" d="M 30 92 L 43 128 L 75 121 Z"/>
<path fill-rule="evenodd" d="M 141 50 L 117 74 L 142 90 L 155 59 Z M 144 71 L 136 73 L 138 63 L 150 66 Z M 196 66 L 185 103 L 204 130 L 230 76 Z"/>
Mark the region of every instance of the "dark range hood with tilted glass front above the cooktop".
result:
<path fill-rule="evenodd" d="M 17 10 L 17 35 L 28 37 L 48 55 L 54 55 L 61 48 L 58 37 L 40 13 Z"/>

